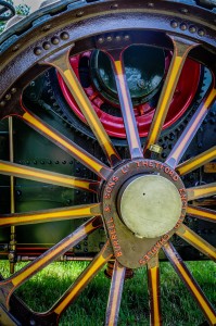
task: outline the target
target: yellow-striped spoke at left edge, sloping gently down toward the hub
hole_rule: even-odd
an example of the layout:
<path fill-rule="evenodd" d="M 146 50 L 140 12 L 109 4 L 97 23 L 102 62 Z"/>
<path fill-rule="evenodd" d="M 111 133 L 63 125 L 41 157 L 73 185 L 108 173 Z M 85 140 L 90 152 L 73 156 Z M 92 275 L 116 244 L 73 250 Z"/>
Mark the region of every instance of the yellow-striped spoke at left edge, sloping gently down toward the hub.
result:
<path fill-rule="evenodd" d="M 68 188 L 78 188 L 85 191 L 97 192 L 100 183 L 63 175 L 55 172 L 24 166 L 0 160 L 0 174 L 30 179 Z"/>

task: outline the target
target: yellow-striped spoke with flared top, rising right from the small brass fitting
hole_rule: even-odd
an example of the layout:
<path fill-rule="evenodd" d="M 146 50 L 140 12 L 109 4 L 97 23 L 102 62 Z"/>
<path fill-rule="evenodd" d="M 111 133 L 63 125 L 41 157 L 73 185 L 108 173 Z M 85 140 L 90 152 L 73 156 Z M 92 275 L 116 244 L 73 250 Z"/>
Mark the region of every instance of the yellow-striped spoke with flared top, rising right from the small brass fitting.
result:
<path fill-rule="evenodd" d="M 144 146 L 144 153 L 158 140 L 185 61 L 190 50 L 198 46 L 177 36 L 170 36 L 170 39 L 174 43 L 174 54 Z"/>

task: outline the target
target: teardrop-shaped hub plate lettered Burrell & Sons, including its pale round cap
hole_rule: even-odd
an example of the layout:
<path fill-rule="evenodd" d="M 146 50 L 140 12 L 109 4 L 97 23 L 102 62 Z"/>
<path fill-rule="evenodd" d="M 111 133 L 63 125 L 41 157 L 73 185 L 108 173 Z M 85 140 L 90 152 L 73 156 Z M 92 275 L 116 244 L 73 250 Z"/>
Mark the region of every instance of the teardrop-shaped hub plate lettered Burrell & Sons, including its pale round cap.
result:
<path fill-rule="evenodd" d="M 135 209 L 135 201 L 144 185 L 144 179 L 151 180 L 149 189 L 145 191 L 151 197 L 152 203 L 156 200 L 166 200 L 166 202 L 160 203 L 162 212 L 157 216 L 155 213 L 151 213 L 150 220 L 152 218 L 152 221 L 147 222 L 145 217 L 142 217 L 142 222 L 139 222 L 140 213 Z M 161 189 L 158 181 L 162 181 Z M 125 185 L 127 185 L 126 188 Z M 135 190 L 134 187 L 138 189 Z M 128 195 L 129 189 L 135 191 Z M 128 204 L 127 196 L 129 196 Z M 181 225 L 186 215 L 187 195 L 179 175 L 166 164 L 154 160 L 134 160 L 119 166 L 110 177 L 102 191 L 102 202 L 105 229 L 116 259 L 126 267 L 137 268 L 155 255 Z M 125 213 L 129 203 L 135 209 L 134 212 L 130 211 L 131 214 Z M 161 231 L 163 223 L 156 221 L 162 218 L 164 222 L 166 213 L 169 214 L 170 220 L 167 218 L 168 222 L 166 221 L 164 229 Z M 128 227 L 129 220 L 130 223 L 137 221 L 135 225 L 139 233 L 131 229 L 131 226 Z M 151 224 L 151 230 L 145 234 Z"/>

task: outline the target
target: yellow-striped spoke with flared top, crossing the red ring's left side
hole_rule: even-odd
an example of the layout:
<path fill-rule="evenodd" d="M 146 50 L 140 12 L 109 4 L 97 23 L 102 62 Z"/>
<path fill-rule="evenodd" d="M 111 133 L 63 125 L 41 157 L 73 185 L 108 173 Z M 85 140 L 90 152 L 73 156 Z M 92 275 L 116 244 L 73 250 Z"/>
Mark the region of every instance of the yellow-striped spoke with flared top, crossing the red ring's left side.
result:
<path fill-rule="evenodd" d="M 54 66 L 61 74 L 77 105 L 86 117 L 94 136 L 97 137 L 100 146 L 105 152 L 111 165 L 115 165 L 120 161 L 120 158 L 69 64 L 69 50 L 66 49 L 65 51 L 55 55 L 55 58 L 48 58 L 41 63 Z"/>

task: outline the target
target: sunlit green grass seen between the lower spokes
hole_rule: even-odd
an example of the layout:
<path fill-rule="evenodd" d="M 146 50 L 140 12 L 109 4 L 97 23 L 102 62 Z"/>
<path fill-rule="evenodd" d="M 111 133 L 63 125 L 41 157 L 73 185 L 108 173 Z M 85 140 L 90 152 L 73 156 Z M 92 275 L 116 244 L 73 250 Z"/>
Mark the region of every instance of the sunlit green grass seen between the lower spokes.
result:
<path fill-rule="evenodd" d="M 55 262 L 38 273 L 17 293 L 35 311 L 48 310 L 60 294 L 76 279 L 88 263 Z M 16 269 L 24 264 L 16 265 Z M 188 262 L 191 273 L 216 305 L 216 267 L 213 262 Z M 9 276 L 8 262 L 0 262 L 0 271 Z M 168 262 L 161 263 L 161 291 L 163 325 L 193 326 L 204 322 L 204 316 Z M 89 286 L 64 313 L 61 326 L 103 325 L 110 279 L 99 273 Z M 149 325 L 149 303 L 145 268 L 136 271 L 135 277 L 125 281 L 119 312 L 119 326 Z"/>

